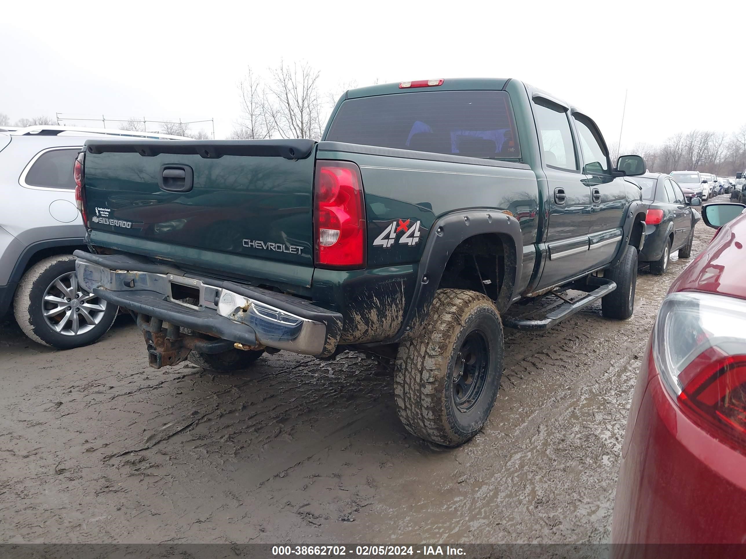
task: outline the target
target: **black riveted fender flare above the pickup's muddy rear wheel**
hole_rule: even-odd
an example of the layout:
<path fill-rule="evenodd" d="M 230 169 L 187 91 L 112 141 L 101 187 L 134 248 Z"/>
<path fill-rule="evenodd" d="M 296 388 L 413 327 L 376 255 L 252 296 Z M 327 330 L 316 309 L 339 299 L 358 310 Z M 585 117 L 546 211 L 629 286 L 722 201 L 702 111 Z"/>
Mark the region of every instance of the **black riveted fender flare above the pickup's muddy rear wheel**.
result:
<path fill-rule="evenodd" d="M 435 292 L 451 254 L 466 239 L 484 233 L 500 235 L 508 250 L 513 253 L 513 258 L 510 260 L 507 258 L 509 255 L 506 254 L 507 266 L 513 268 L 513 273 L 506 274 L 497 301 L 498 310 L 502 312 L 507 309 L 513 300 L 515 286 L 520 282 L 522 273 L 521 224 L 513 215 L 499 209 L 466 209 L 453 212 L 438 218 L 430 228 L 430 234 L 427 236 L 420 259 L 412 300 L 392 342 L 416 334 L 418 327 L 430 312 L 430 305 L 433 303 Z"/>

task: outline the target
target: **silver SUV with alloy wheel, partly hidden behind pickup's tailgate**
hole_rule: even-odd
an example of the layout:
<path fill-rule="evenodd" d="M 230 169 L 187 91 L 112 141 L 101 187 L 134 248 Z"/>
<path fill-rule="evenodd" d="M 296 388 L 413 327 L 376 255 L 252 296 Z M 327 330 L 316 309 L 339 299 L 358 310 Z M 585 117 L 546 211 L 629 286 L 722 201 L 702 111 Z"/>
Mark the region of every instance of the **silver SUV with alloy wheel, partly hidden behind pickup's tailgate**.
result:
<path fill-rule="evenodd" d="M 75 277 L 72 251 L 87 250 L 72 165 L 88 138 L 182 140 L 157 133 L 32 126 L 0 128 L 0 318 L 13 307 L 34 341 L 59 349 L 92 344 L 116 307 Z"/>

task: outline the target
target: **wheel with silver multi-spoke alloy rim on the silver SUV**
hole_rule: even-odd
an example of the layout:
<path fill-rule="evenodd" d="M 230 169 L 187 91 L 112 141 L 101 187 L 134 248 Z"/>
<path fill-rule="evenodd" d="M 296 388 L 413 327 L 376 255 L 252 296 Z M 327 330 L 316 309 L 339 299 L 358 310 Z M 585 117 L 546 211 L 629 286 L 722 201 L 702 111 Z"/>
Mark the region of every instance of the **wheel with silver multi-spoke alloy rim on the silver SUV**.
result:
<path fill-rule="evenodd" d="M 25 335 L 58 350 L 93 344 L 110 329 L 117 310 L 78 285 L 72 254 L 50 256 L 28 268 L 13 299 Z"/>

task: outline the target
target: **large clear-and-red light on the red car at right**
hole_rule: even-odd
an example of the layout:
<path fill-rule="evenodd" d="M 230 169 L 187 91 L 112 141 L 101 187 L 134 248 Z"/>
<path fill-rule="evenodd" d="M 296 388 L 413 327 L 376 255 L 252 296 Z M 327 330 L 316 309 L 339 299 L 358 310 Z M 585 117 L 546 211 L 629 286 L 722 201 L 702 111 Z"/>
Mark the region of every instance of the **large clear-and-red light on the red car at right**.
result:
<path fill-rule="evenodd" d="M 656 320 L 653 358 L 682 411 L 746 453 L 746 301 L 669 294 Z"/>

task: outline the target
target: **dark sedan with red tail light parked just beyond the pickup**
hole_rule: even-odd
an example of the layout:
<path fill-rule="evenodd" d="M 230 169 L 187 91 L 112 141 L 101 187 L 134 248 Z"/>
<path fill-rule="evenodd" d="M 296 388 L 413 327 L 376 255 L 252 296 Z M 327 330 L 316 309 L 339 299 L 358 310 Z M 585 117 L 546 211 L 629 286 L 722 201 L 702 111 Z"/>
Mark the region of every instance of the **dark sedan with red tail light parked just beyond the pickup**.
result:
<path fill-rule="evenodd" d="M 671 175 L 648 173 L 627 180 L 642 188 L 642 200 L 648 204 L 645 245 L 640 252 L 639 262 L 650 262 L 653 274 L 665 274 L 674 250 L 679 251 L 679 258 L 689 258 L 695 224 L 701 216 L 687 205 L 684 193 Z M 689 203 L 700 206 L 702 200 L 695 196 Z"/>

